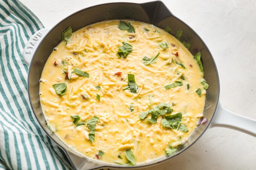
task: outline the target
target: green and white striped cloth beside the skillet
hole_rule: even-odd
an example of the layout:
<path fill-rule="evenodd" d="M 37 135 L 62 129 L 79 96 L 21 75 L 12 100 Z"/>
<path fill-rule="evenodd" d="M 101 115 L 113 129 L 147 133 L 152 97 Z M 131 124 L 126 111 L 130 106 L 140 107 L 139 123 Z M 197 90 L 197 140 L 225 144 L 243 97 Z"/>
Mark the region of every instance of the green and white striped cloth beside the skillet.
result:
<path fill-rule="evenodd" d="M 0 170 L 71 169 L 38 124 L 27 94 L 23 48 L 43 24 L 16 0 L 0 0 Z"/>

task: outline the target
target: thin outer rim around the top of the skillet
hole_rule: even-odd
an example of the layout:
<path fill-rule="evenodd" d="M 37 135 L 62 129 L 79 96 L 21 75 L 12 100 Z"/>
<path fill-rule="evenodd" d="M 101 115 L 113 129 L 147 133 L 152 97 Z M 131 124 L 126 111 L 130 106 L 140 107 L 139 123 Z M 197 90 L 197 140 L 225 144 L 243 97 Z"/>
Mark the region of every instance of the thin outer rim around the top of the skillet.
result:
<path fill-rule="evenodd" d="M 34 113 L 34 115 L 35 115 L 35 117 L 36 117 L 38 123 L 40 124 L 41 128 L 44 130 L 44 132 L 47 134 L 47 136 L 50 137 L 50 139 L 53 140 L 53 141 L 56 143 L 56 145 L 58 145 L 58 146 L 66 153 L 67 157 L 69 158 L 69 161 L 70 161 L 71 166 L 72 166 L 73 168 L 75 168 L 75 169 L 76 169 L 76 166 L 75 166 L 74 163 L 71 161 L 71 158 L 70 158 L 70 155 L 69 155 L 69 151 L 67 151 L 66 149 L 64 149 L 58 142 L 56 142 L 56 141 L 52 138 L 52 136 L 51 136 L 51 135 L 46 131 L 46 129 L 43 127 L 43 124 L 40 123 L 40 120 L 39 120 L 38 116 L 35 114 L 35 109 L 34 109 L 34 106 L 32 105 L 32 101 L 31 101 L 31 97 L 30 97 L 30 87 L 29 87 L 30 72 L 31 72 L 31 67 L 32 67 L 31 63 L 33 62 L 33 60 L 34 60 L 34 58 L 35 58 L 35 54 L 37 53 L 38 48 L 40 48 L 41 43 L 42 43 L 42 42 L 44 41 L 44 39 L 48 36 L 48 34 L 49 34 L 53 29 L 55 29 L 55 27 L 57 27 L 59 24 L 61 24 L 61 22 L 65 21 L 67 18 L 69 18 L 69 17 L 75 15 L 76 13 L 82 12 L 83 10 L 91 9 L 91 8 L 93 8 L 93 7 L 96 7 L 96 6 L 106 5 L 106 4 L 120 4 L 120 3 L 122 3 L 122 4 L 137 4 L 137 5 L 142 6 L 143 4 L 152 3 L 152 2 L 155 2 L 155 3 L 156 3 L 156 2 L 157 2 L 157 3 L 162 3 L 162 4 L 166 7 L 166 5 L 165 5 L 162 1 L 156 0 L 156 1 L 149 1 L 149 2 L 146 2 L 146 3 L 130 3 L 130 2 L 102 3 L 102 4 L 97 4 L 97 5 L 93 5 L 93 6 L 86 7 L 86 8 L 83 8 L 83 9 L 81 9 L 81 10 L 78 10 L 78 11 L 76 11 L 76 12 L 70 14 L 69 16 L 65 17 L 64 19 L 62 19 L 61 21 L 59 21 L 57 24 L 55 24 L 55 25 L 46 33 L 46 35 L 43 37 L 43 39 L 40 41 L 40 43 L 38 43 L 38 46 L 37 46 L 37 48 L 35 49 L 35 52 L 34 52 L 34 54 L 33 54 L 33 57 L 32 57 L 32 59 L 31 59 L 31 62 L 30 62 L 29 72 L 28 72 L 28 76 L 27 76 L 27 77 L 28 77 L 28 78 L 27 78 L 27 92 L 28 92 L 28 95 L 29 95 L 30 106 L 31 106 L 32 111 L 33 111 L 33 113 Z M 158 6 L 158 5 L 159 5 L 159 4 L 157 4 L 157 6 Z M 218 88 L 218 93 L 217 93 L 217 96 L 216 96 L 216 105 L 215 105 L 214 111 L 213 111 L 213 113 L 212 113 L 212 115 L 211 115 L 211 118 L 208 119 L 208 123 L 207 123 L 206 127 L 205 127 L 204 130 L 195 138 L 194 141 L 192 141 L 187 147 L 181 149 L 180 151 L 176 152 L 176 154 L 174 154 L 174 155 L 172 155 L 172 156 L 170 156 L 170 157 L 166 157 L 165 159 L 160 160 L 160 161 L 154 160 L 154 161 L 156 161 L 156 162 L 154 162 L 154 163 L 142 163 L 142 164 L 138 164 L 138 165 L 135 165 L 135 166 L 120 166 L 120 165 L 108 164 L 108 163 L 100 162 L 100 163 L 101 163 L 101 166 L 95 167 L 96 169 L 100 169 L 100 168 L 118 168 L 118 169 L 120 169 L 120 168 L 122 168 L 122 169 L 133 169 L 133 168 L 134 168 L 134 169 L 136 169 L 136 168 L 142 168 L 142 167 L 149 167 L 149 166 L 157 165 L 157 164 L 163 163 L 163 162 L 165 162 L 165 161 L 168 161 L 168 160 L 170 160 L 171 158 L 174 158 L 175 156 L 181 154 L 181 152 L 184 152 L 186 149 L 190 148 L 190 146 L 194 145 L 194 143 L 197 142 L 197 140 L 205 133 L 205 131 L 206 131 L 207 128 L 209 127 L 210 123 L 212 122 L 212 119 L 213 119 L 213 117 L 214 117 L 214 115 L 215 115 L 215 112 L 216 112 L 216 109 L 217 109 L 217 106 L 218 106 L 218 103 L 219 103 L 219 92 L 220 92 L 218 69 L 217 69 L 216 64 L 215 64 L 215 61 L 214 61 L 214 59 L 213 59 L 213 57 L 212 57 L 212 53 L 210 52 L 210 50 L 209 50 L 209 48 L 207 47 L 206 43 L 204 43 L 203 39 L 201 39 L 201 37 L 200 37 L 189 25 L 187 25 L 184 21 L 182 21 L 181 19 L 179 19 L 179 18 L 176 17 L 175 15 L 173 15 L 172 12 L 169 10 L 168 7 L 166 7 L 166 9 L 170 12 L 170 14 L 171 14 L 172 17 L 174 17 L 174 18 L 178 19 L 179 21 L 181 21 L 181 22 L 182 22 L 184 25 L 186 25 L 192 32 L 195 33 L 195 35 L 201 40 L 201 42 L 202 42 L 203 45 L 205 46 L 206 50 L 207 50 L 207 51 L 209 52 L 209 54 L 210 54 L 210 58 L 211 58 L 211 60 L 212 60 L 212 63 L 213 63 L 213 66 L 214 66 L 215 72 L 216 72 L 217 88 Z M 93 22 L 93 23 L 94 23 L 94 22 Z M 85 26 L 86 26 L 86 25 L 85 25 Z M 85 27 L 85 26 L 84 26 L 84 27 Z M 163 29 L 163 28 L 162 28 L 162 29 Z M 39 95 L 38 95 L 38 97 L 39 97 Z M 40 104 L 40 107 L 41 107 L 41 104 Z M 194 132 L 193 132 L 193 133 L 194 133 Z M 193 134 L 193 133 L 192 133 L 192 134 Z M 192 135 L 192 134 L 191 134 L 191 135 Z M 64 142 L 63 142 L 63 144 L 66 145 Z M 67 147 L 68 147 L 68 146 L 67 146 Z M 70 149 L 71 149 L 71 148 L 70 148 Z M 72 150 L 72 149 L 71 149 L 71 150 Z M 74 152 L 76 153 L 76 151 L 74 151 Z M 72 153 L 72 154 L 73 154 L 73 153 Z M 76 156 L 78 156 L 78 154 L 76 154 Z M 99 163 L 99 161 L 92 160 L 92 159 L 87 158 L 87 157 L 85 157 L 85 156 L 84 156 L 84 159 L 85 159 L 85 160 L 92 161 L 92 162 L 94 162 L 94 163 Z M 104 164 L 105 164 L 105 165 L 104 165 Z"/>

